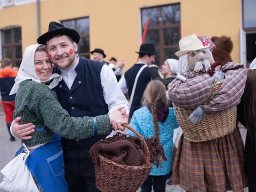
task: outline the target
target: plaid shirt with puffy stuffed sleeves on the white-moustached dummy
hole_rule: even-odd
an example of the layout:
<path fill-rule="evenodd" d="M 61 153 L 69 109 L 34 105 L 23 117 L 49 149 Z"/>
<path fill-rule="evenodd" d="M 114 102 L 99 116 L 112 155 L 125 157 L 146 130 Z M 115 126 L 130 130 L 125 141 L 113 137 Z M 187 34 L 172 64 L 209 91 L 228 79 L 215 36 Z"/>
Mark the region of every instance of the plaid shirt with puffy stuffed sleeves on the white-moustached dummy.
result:
<path fill-rule="evenodd" d="M 247 72 L 243 65 L 229 62 L 221 67 L 225 79 L 217 94 L 202 108 L 213 113 L 224 111 L 236 106 L 242 97 L 246 85 Z M 207 73 L 186 72 L 183 74 L 186 82 L 174 79 L 168 86 L 170 101 L 184 108 L 196 108 L 209 97 L 212 84 L 216 80 Z"/>

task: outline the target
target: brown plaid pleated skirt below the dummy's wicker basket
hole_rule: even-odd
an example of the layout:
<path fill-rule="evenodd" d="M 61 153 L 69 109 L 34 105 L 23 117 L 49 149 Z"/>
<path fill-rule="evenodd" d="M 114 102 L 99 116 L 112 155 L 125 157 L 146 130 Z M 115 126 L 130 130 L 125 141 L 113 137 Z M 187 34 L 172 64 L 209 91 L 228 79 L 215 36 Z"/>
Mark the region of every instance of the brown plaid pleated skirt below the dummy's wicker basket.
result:
<path fill-rule="evenodd" d="M 191 142 L 183 136 L 174 154 L 172 184 L 186 191 L 243 191 L 243 143 L 238 127 L 216 140 Z"/>

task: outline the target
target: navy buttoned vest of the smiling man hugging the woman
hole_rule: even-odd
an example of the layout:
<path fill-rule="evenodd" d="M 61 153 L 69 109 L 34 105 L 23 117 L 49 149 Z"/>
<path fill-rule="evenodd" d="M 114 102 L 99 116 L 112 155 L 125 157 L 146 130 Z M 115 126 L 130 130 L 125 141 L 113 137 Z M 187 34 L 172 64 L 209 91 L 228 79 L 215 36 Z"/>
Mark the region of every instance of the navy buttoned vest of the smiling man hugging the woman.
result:
<path fill-rule="evenodd" d="M 108 105 L 103 97 L 100 72 L 104 63 L 79 57 L 76 67 L 77 76 L 71 89 L 65 81 L 60 81 L 53 90 L 57 94 L 58 102 L 66 109 L 70 116 L 98 116 L 108 114 Z M 61 71 L 54 67 L 54 73 Z M 83 140 L 68 140 L 62 138 L 62 147 L 90 147 L 101 140 L 101 136 L 93 136 Z"/>

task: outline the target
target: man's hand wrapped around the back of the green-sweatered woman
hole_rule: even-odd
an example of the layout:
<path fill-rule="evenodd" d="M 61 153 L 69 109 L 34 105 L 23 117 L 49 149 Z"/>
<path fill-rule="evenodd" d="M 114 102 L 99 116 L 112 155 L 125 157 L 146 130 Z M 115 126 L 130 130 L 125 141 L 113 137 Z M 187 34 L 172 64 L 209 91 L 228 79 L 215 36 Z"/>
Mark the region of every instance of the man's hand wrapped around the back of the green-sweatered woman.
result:
<path fill-rule="evenodd" d="M 21 116 L 18 116 L 12 125 L 12 133 L 16 137 L 20 138 L 21 140 L 31 140 L 31 136 L 27 136 L 33 132 L 35 132 L 35 125 L 31 122 L 28 124 L 20 125 L 19 121 L 22 119 Z"/>

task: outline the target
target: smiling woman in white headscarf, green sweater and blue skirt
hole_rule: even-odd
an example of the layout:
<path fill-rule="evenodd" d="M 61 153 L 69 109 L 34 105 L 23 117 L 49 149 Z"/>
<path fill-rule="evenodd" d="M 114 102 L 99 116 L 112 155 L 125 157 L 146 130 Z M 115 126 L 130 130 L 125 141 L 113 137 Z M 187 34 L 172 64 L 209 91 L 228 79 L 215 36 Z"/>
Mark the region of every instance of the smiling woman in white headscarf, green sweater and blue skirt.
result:
<path fill-rule="evenodd" d="M 127 116 L 122 115 L 119 111 L 122 108 L 116 109 L 110 115 L 70 117 L 58 103 L 55 92 L 51 90 L 57 86 L 59 81 L 61 81 L 61 76 L 56 73 L 52 74 L 52 63 L 47 55 L 47 47 L 45 45 L 26 47 L 10 94 L 17 93 L 14 118 L 22 116 L 20 124 L 33 122 L 35 125 L 35 132 L 31 134 L 31 140 L 22 141 L 23 147 L 15 157 L 18 159 L 20 155 L 24 156 L 24 153 L 27 153 L 23 163 L 33 175 L 35 187 L 31 189 L 31 180 L 30 185 L 24 185 L 24 181 L 15 182 L 19 180 L 19 177 L 22 178 L 22 175 L 19 176 L 17 170 L 13 170 L 17 163 L 12 164 L 13 161 L 11 161 L 2 170 L 7 179 L 0 184 L 0 189 L 7 191 L 68 191 L 61 137 L 82 139 L 94 135 L 107 135 L 112 130 L 111 121 L 114 120 L 120 124 L 127 123 Z M 10 167 L 13 169 L 9 169 Z M 14 179 L 8 179 L 9 173 L 13 172 L 17 172 L 16 175 L 13 175 Z M 29 181 L 27 182 L 29 183 Z"/>

